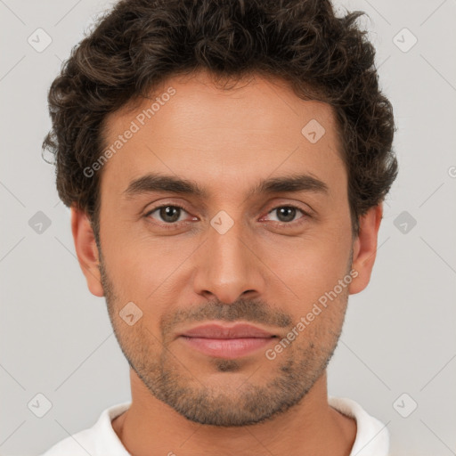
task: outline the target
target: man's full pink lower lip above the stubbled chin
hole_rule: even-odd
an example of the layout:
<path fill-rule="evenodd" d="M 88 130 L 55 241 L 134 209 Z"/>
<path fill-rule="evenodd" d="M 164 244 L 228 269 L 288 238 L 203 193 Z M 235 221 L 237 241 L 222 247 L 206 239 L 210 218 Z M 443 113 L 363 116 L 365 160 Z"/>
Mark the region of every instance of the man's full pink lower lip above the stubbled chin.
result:
<path fill-rule="evenodd" d="M 209 356 L 233 359 L 251 354 L 271 343 L 273 338 L 190 338 L 181 337 L 183 341 Z"/>

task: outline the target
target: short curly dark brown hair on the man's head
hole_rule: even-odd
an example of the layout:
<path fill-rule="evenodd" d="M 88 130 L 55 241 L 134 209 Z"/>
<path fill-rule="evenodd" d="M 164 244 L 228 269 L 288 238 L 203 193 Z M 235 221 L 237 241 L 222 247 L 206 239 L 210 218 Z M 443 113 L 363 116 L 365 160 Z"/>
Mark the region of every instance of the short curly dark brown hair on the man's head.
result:
<path fill-rule="evenodd" d="M 215 81 L 281 77 L 302 99 L 336 113 L 354 236 L 397 175 L 391 103 L 379 90 L 375 49 L 330 0 L 121 0 L 61 68 L 48 94 L 56 185 L 85 211 L 99 239 L 100 176 L 83 172 L 102 155 L 107 116 L 167 78 L 208 70 Z"/>

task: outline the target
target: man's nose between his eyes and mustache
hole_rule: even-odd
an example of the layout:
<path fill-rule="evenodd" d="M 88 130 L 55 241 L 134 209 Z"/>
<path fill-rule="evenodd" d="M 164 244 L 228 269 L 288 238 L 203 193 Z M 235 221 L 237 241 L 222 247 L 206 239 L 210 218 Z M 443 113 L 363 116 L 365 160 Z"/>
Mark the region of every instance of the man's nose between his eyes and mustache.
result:
<path fill-rule="evenodd" d="M 208 239 L 195 252 L 197 294 L 226 304 L 248 294 L 263 294 L 265 266 L 242 231 L 240 223 L 223 234 L 209 227 Z"/>

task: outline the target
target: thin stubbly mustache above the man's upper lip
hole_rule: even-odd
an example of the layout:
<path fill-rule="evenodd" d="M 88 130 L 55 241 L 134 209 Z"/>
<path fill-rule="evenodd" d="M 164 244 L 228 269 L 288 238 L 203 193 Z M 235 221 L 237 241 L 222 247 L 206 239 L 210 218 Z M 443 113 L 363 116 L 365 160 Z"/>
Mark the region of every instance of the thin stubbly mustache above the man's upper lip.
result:
<path fill-rule="evenodd" d="M 287 328 L 292 323 L 292 318 L 289 314 L 275 310 L 264 301 L 240 298 L 232 304 L 216 300 L 179 309 L 172 315 L 163 316 L 160 321 L 160 328 L 166 334 L 180 323 L 201 322 L 204 320 L 219 320 L 222 322 L 242 320 L 278 328 Z"/>

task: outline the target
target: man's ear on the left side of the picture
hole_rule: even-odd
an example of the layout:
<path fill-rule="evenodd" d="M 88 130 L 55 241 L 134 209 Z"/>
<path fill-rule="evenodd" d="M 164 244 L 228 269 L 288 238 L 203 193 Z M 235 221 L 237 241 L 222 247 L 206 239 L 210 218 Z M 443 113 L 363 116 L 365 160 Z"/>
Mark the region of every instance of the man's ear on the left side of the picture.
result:
<path fill-rule="evenodd" d="M 100 256 L 94 231 L 85 212 L 76 205 L 71 207 L 71 232 L 75 241 L 77 260 L 85 275 L 87 287 L 94 296 L 103 297 L 102 279 L 98 269 Z"/>

